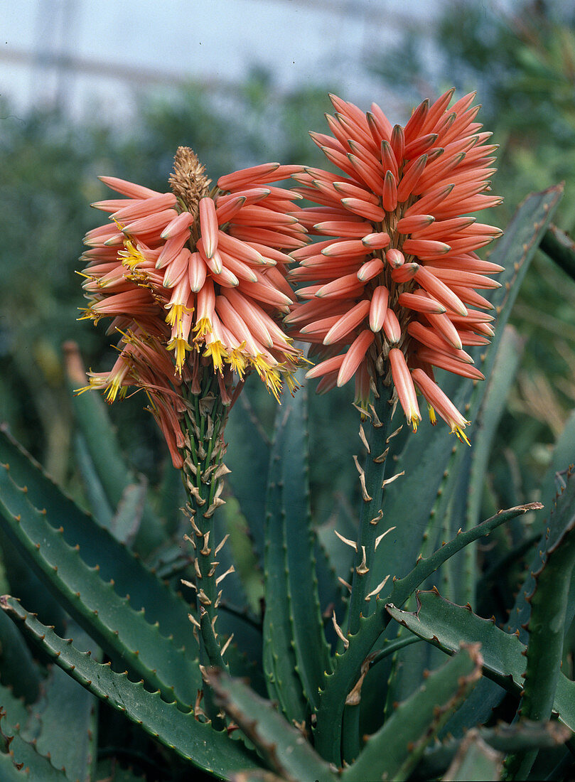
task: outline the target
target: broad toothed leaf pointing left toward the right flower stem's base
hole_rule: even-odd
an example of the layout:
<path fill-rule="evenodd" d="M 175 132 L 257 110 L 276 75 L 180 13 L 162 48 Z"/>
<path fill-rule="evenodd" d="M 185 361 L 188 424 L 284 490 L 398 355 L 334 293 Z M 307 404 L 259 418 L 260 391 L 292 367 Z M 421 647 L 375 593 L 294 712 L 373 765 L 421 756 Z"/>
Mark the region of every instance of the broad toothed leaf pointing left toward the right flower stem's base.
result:
<path fill-rule="evenodd" d="M 526 647 L 516 635 L 500 630 L 492 619 L 481 619 L 469 607 L 455 605 L 437 590 L 417 593 L 418 610 L 401 611 L 394 604 L 386 610 L 397 622 L 433 646 L 453 655 L 459 644 L 481 644 L 483 673 L 505 690 L 519 694 L 523 690 Z M 553 711 L 573 730 L 575 727 L 575 683 L 560 674 Z"/>

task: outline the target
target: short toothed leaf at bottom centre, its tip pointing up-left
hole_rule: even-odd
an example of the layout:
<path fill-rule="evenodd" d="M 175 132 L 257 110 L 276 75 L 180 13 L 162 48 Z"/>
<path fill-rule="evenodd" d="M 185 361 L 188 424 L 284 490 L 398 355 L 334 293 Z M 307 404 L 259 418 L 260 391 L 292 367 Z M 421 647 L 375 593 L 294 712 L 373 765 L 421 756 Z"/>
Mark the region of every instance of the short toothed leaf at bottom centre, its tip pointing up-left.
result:
<path fill-rule="evenodd" d="M 271 769 L 288 780 L 335 782 L 337 776 L 328 764 L 270 701 L 264 701 L 246 684 L 220 669 L 211 669 L 207 679 L 221 708 L 255 744 Z"/>

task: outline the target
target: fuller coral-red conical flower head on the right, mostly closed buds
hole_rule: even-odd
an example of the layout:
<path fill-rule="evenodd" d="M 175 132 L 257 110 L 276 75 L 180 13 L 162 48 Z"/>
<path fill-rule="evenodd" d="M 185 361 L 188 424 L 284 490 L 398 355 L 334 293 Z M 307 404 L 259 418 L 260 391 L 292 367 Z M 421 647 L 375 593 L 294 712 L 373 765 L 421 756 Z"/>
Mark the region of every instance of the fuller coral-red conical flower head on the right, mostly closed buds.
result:
<path fill-rule="evenodd" d="M 312 133 L 338 174 L 304 169 L 296 192 L 317 206 L 296 211 L 327 237 L 291 256 L 300 303 L 286 318 L 321 359 L 307 373 L 318 391 L 355 378 L 365 405 L 377 375 L 389 377 L 408 421 L 421 420 L 416 389 L 465 437 L 468 421 L 437 386 L 433 368 L 480 379 L 465 346 L 493 335 L 491 304 L 477 289 L 499 287 L 501 267 L 476 250 L 501 234 L 469 213 L 501 202 L 489 194 L 495 145 L 476 122 L 475 93 L 451 108 L 453 90 L 424 101 L 405 127 L 375 103 L 363 113 L 332 96 L 332 135 Z"/>

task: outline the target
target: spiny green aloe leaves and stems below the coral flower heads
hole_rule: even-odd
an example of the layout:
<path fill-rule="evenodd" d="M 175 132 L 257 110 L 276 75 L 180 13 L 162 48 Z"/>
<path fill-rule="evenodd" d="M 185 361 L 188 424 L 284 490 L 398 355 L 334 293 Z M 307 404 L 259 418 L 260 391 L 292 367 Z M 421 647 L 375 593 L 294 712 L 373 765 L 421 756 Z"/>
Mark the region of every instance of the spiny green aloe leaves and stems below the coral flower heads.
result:
<path fill-rule="evenodd" d="M 542 503 L 481 514 L 520 352 L 506 323 L 561 192 L 530 195 L 491 254 L 505 267 L 498 331 L 469 349 L 487 382 L 445 379 L 471 411 L 471 445 L 400 431 L 380 389 L 351 449 L 364 451 L 357 518 L 334 499 L 332 520 L 314 519 L 306 389 L 282 394 L 268 439 L 204 373 L 185 392 L 183 481 L 170 468 L 156 487 L 128 465 L 99 396 L 72 395 L 89 512 L 2 428 L 2 779 L 559 778 L 575 730 L 562 668 L 575 476 L 555 496 L 553 475 L 575 461 L 572 437 Z M 482 576 L 487 536 L 500 564 Z M 506 585 L 505 563 L 523 561 L 509 622 L 479 615 L 479 585 Z"/>

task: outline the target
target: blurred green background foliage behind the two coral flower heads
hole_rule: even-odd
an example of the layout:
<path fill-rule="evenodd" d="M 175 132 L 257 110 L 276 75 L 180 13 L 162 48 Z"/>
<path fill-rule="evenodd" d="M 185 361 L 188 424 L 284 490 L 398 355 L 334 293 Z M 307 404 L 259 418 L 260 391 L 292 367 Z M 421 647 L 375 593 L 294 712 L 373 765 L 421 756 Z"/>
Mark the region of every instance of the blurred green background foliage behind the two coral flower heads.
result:
<path fill-rule="evenodd" d="M 457 3 L 447 5 L 425 39 L 421 27 L 406 27 L 395 49 L 374 50 L 370 67 L 403 102 L 404 116 L 392 117 L 397 121 L 422 98 L 451 86 L 459 95 L 477 90 L 480 120 L 501 145 L 493 189 L 505 196 L 498 213 L 483 219 L 505 227 L 527 192 L 565 180 L 556 222 L 569 232 L 575 222 L 575 11 L 570 3 L 512 7 L 504 16 L 483 3 L 467 4 L 465 14 Z M 266 159 L 323 166 L 307 131 L 325 130 L 328 91 L 337 92 L 337 84 L 278 94 L 268 74 L 253 71 L 241 88 L 224 94 L 201 84 L 147 94 L 122 131 L 106 124 L 98 106 L 90 122 L 72 122 L 57 110 L 19 118 L 0 106 L 0 420 L 9 421 L 15 436 L 70 490 L 80 489 L 61 346 L 76 340 L 94 368 L 113 358 L 102 328 L 76 322 L 83 303 L 74 274 L 81 237 L 102 219 L 88 203 L 107 197 L 97 175 L 164 189 L 181 144 L 195 149 L 214 181 Z M 492 457 L 501 502 L 512 493 L 514 502 L 533 499 L 529 486 L 544 471 L 549 445 L 575 401 L 575 284 L 543 253 L 523 285 L 513 324 L 525 347 Z M 248 386 L 270 425 L 273 400 L 257 384 Z M 311 395 L 318 522 L 329 515 L 334 488 L 347 496 L 356 490 L 352 393 L 340 389 L 321 400 Z M 142 407 L 143 397 L 136 395 L 114 405 L 111 414 L 132 464 L 156 482 L 155 465 L 166 454 Z M 342 448 L 342 442 L 350 444 Z"/>

